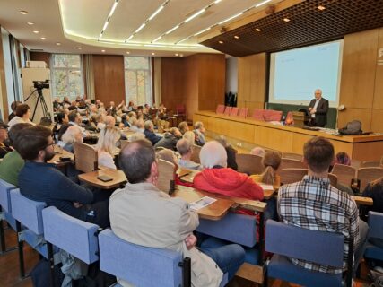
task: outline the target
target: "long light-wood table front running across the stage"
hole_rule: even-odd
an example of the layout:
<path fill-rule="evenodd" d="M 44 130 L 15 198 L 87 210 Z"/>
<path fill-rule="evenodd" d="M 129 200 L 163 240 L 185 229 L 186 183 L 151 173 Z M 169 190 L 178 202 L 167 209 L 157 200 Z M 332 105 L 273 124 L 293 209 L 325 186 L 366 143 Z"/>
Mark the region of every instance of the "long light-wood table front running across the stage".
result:
<path fill-rule="evenodd" d="M 251 118 L 217 115 L 213 111 L 198 111 L 193 120 L 202 121 L 210 137 L 226 135 L 248 146 L 257 144 L 281 152 L 302 154 L 303 144 L 321 135 L 334 144 L 335 152 L 347 152 L 353 160 L 375 161 L 383 154 L 383 135 L 336 136 L 294 126 L 275 126 Z"/>

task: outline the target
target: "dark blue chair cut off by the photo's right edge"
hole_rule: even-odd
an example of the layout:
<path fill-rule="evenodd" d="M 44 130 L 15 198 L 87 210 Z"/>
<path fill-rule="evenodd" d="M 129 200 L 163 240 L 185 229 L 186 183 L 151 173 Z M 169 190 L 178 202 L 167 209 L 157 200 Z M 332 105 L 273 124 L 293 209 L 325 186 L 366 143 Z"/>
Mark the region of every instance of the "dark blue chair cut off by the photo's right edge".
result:
<path fill-rule="evenodd" d="M 383 248 L 374 244 L 374 240 L 383 242 L 383 213 L 369 212 L 369 242 L 367 243 L 364 257 L 383 261 Z"/>

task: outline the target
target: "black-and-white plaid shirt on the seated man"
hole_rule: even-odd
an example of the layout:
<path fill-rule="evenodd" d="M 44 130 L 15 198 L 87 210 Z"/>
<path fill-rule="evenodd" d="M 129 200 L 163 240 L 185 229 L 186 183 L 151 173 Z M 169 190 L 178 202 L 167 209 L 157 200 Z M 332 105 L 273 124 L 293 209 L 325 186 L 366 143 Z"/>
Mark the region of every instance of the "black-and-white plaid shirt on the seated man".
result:
<path fill-rule="evenodd" d="M 350 237 L 354 239 L 354 248 L 360 241 L 358 208 L 351 196 L 332 187 L 328 178 L 305 176 L 302 181 L 279 189 L 277 208 L 284 223 L 344 234 L 343 270 L 292 258 L 293 264 L 330 274 L 346 269 Z"/>

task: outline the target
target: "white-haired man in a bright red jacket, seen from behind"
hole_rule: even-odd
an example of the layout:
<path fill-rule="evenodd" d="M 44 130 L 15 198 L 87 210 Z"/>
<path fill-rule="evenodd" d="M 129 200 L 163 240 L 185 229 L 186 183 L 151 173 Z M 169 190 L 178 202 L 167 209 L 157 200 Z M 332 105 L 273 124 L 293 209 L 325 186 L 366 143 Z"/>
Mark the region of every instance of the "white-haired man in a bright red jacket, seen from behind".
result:
<path fill-rule="evenodd" d="M 194 187 L 224 196 L 263 200 L 264 191 L 244 173 L 227 168 L 227 153 L 221 143 L 205 143 L 199 158 L 205 170 L 198 173 Z"/>

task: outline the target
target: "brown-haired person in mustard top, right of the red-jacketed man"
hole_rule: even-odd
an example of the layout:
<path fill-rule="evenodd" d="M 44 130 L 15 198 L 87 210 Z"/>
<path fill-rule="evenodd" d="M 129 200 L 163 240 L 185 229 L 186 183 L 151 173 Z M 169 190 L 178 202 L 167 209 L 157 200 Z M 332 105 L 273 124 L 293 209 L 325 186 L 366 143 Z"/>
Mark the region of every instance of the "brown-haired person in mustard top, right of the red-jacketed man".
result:
<path fill-rule="evenodd" d="M 281 165 L 281 154 L 279 152 L 267 151 L 262 159 L 262 164 L 265 170 L 262 174 L 250 176 L 255 182 L 262 182 L 267 185 L 279 187 L 281 178 L 276 174 L 276 171 Z"/>

